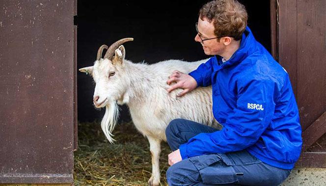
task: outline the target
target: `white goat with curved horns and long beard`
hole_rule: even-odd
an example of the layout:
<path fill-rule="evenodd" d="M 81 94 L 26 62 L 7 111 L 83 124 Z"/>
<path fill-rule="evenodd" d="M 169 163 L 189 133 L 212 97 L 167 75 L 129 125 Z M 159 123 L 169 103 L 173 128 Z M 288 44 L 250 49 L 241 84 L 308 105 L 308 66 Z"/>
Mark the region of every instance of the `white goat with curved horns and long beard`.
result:
<path fill-rule="evenodd" d="M 184 118 L 220 128 L 212 114 L 212 87 L 199 87 L 182 97 L 181 89 L 167 93 L 168 76 L 173 70 L 189 73 L 206 60 L 184 62 L 167 60 L 153 65 L 135 64 L 125 59 L 121 44 L 132 41 L 125 38 L 99 48 L 94 66 L 80 69 L 89 73 L 96 83 L 94 105 L 106 107 L 101 126 L 109 142 L 119 115 L 117 104 L 127 104 L 137 130 L 147 137 L 152 155 L 150 186 L 160 184 L 159 157 L 161 141 L 166 141 L 165 128 L 175 118 Z M 106 48 L 104 59 L 101 58 Z M 114 55 L 115 54 L 115 55 Z"/>

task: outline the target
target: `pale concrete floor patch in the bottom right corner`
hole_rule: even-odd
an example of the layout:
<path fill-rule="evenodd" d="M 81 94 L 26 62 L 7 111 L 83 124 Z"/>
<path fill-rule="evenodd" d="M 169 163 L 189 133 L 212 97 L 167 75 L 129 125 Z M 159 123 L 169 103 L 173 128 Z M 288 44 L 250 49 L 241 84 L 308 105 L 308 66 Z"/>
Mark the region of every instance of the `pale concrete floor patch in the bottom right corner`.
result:
<path fill-rule="evenodd" d="M 326 168 L 294 168 L 281 186 L 326 186 Z"/>

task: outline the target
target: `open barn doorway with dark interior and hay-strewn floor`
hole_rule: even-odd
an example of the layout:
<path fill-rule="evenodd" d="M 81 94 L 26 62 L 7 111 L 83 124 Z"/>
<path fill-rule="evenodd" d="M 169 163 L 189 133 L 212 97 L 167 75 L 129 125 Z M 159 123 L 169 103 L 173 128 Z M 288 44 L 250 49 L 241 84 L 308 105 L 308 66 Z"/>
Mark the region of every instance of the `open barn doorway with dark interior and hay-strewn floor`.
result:
<path fill-rule="evenodd" d="M 258 1 L 240 1 L 247 9 L 248 26 L 256 40 L 271 52 L 270 1 L 259 1 L 259 4 Z M 99 46 L 110 45 L 125 37 L 134 38 L 133 42 L 124 46 L 126 58 L 135 63 L 208 58 L 201 45 L 194 41 L 198 11 L 206 2 L 208 0 L 78 1 L 78 69 L 93 64 Z M 117 142 L 109 144 L 99 124 L 105 110 L 96 110 L 92 105 L 92 81 L 91 77 L 78 72 L 79 149 L 75 152 L 75 180 L 80 180 L 81 184 L 97 184 L 98 179 L 91 175 L 94 174 L 106 183 L 138 185 L 139 181 L 146 184 L 151 176 L 152 164 L 147 139 L 136 132 L 130 122 L 128 108 L 122 106 L 118 126 L 113 133 Z M 161 144 L 161 149 L 160 172 L 164 185 L 166 180 L 163 175 L 168 167 L 166 157 L 170 149 L 166 143 Z M 110 157 L 95 152 L 105 152 Z M 83 169 L 85 167 L 86 170 Z M 112 176 L 115 179 L 108 180 Z"/>

